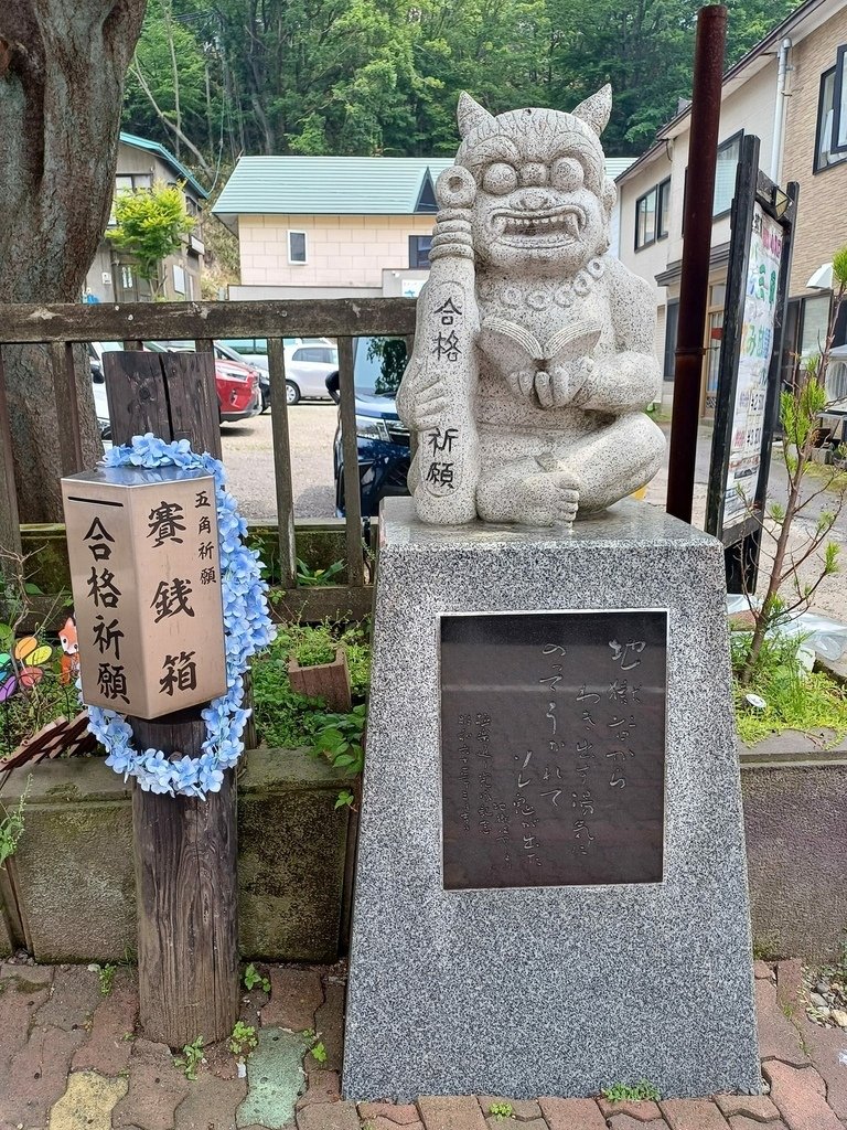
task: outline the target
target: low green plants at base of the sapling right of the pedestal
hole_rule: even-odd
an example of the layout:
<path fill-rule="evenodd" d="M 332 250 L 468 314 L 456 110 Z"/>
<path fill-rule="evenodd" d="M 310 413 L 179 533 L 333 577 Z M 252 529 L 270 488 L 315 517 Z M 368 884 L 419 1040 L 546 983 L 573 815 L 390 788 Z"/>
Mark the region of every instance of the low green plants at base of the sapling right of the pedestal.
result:
<path fill-rule="evenodd" d="M 734 687 L 735 724 L 739 737 L 746 745 L 754 745 L 770 733 L 784 730 L 810 732 L 831 730 L 833 741 L 847 733 L 847 692 L 823 672 L 806 671 L 797 659 L 802 636 L 788 637 L 776 631 L 762 643 L 756 671 L 743 685 L 739 676 L 744 669 L 750 649 L 749 632 L 730 633 Z M 758 710 L 748 694 L 763 698 L 766 706 Z"/>

